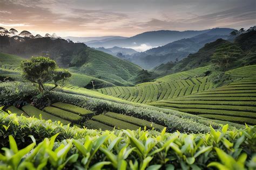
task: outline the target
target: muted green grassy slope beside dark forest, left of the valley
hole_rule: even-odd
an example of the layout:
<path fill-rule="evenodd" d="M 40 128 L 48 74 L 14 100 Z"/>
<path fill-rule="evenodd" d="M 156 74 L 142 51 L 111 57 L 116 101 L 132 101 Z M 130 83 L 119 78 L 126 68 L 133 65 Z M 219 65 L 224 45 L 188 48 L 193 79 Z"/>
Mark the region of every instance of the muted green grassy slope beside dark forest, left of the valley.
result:
<path fill-rule="evenodd" d="M 85 64 L 80 67 L 70 67 L 70 70 L 86 73 L 116 85 L 133 85 L 132 79 L 142 71 L 142 68 L 118 57 L 90 49 Z"/>

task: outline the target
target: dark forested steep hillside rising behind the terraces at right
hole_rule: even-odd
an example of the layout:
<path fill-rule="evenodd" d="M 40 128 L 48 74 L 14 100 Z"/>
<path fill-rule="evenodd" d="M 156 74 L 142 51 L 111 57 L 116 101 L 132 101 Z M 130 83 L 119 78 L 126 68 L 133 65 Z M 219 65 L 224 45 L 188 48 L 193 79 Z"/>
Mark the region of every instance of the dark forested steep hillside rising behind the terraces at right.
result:
<path fill-rule="evenodd" d="M 244 65 L 255 64 L 255 37 L 256 31 L 250 30 L 235 38 L 233 43 L 228 42 L 227 40 L 217 39 L 215 42 L 205 44 L 205 46 L 202 47 L 198 52 L 188 55 L 187 58 L 184 58 L 180 62 L 173 65 L 167 64 L 161 65 L 161 67 L 158 66 L 153 70 L 153 72 L 163 76 L 168 73 L 185 71 L 205 66 L 212 63 L 212 57 L 214 56 L 215 52 L 215 55 L 217 56 L 221 54 L 220 52 L 226 52 L 229 53 L 232 58 L 234 58 L 226 70 Z"/>

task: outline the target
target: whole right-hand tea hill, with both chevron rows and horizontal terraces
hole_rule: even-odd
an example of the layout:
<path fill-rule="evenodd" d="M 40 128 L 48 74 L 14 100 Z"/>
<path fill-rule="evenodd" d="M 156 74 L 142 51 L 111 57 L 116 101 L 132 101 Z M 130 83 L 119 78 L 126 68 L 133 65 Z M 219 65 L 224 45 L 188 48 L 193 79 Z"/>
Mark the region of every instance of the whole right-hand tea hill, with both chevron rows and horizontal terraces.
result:
<path fill-rule="evenodd" d="M 211 66 L 170 74 L 134 87 L 107 87 L 99 92 L 218 120 L 256 124 L 256 65 L 225 72 L 227 84 L 216 87 Z M 215 115 L 215 117 L 214 117 Z"/>

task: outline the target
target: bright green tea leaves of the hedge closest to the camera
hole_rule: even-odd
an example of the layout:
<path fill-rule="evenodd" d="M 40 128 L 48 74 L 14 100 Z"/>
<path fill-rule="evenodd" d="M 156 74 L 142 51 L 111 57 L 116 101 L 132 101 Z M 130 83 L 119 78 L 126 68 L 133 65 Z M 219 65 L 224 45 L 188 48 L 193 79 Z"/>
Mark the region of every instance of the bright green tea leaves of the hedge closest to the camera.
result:
<path fill-rule="evenodd" d="M 97 131 L 4 112 L 0 123 L 0 169 L 256 168 L 255 126 L 205 134 Z"/>

